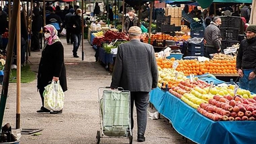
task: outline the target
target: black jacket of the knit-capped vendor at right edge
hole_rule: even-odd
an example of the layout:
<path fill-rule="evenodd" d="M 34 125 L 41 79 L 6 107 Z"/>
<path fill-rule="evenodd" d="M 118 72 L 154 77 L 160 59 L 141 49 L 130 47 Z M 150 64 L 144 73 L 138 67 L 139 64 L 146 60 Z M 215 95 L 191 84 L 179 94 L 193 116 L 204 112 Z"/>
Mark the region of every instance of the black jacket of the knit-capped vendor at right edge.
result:
<path fill-rule="evenodd" d="M 244 39 L 239 47 L 236 57 L 237 69 L 255 69 L 256 73 L 256 38 Z"/>

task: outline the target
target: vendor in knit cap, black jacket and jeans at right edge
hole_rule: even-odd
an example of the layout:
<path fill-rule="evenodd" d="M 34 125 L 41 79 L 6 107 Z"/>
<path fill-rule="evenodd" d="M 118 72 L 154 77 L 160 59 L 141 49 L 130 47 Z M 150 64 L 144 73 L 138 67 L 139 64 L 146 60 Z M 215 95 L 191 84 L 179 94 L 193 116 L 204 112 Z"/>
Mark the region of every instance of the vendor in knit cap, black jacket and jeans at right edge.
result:
<path fill-rule="evenodd" d="M 246 36 L 239 47 L 236 69 L 240 77 L 240 88 L 256 93 L 256 25 L 247 27 Z"/>

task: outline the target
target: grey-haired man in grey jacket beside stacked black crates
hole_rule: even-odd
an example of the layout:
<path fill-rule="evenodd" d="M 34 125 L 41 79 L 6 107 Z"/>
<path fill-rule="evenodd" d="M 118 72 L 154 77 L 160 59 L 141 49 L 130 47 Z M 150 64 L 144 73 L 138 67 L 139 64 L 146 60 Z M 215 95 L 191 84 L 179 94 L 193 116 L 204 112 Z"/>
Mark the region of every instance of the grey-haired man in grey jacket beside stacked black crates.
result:
<path fill-rule="evenodd" d="M 205 28 L 205 57 L 210 58 L 209 54 L 221 52 L 221 31 L 219 26 L 221 26 L 221 18 L 214 17 L 211 24 Z"/>

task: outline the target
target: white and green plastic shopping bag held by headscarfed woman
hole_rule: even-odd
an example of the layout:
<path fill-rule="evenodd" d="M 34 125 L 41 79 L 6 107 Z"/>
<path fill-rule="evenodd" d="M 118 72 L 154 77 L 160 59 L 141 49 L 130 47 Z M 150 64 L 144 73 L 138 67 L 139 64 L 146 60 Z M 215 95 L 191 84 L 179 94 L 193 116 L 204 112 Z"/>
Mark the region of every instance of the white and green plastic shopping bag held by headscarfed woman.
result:
<path fill-rule="evenodd" d="M 60 82 L 52 81 L 51 84 L 44 88 L 44 107 L 53 111 L 62 110 L 64 106 L 64 92 L 60 86 Z"/>

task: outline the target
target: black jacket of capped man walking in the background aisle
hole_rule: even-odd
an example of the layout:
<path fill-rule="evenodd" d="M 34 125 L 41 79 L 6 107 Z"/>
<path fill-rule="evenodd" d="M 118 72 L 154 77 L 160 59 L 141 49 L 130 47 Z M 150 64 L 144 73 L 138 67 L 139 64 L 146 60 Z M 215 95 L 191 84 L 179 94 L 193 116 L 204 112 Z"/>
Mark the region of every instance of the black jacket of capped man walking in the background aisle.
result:
<path fill-rule="evenodd" d="M 84 20 L 85 25 L 85 20 Z M 82 33 L 82 18 L 78 15 L 71 17 L 71 26 L 72 26 L 72 34 L 81 34 Z"/>

